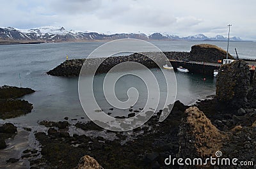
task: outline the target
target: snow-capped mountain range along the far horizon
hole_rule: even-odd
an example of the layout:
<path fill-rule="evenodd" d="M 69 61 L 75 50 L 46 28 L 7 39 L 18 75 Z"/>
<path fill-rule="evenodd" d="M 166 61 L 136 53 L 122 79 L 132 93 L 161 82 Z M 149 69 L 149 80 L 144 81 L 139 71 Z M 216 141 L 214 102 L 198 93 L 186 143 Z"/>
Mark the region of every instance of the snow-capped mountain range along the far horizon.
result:
<path fill-rule="evenodd" d="M 90 31 L 67 31 L 64 27 L 44 26 L 35 29 L 17 29 L 14 27 L 0 27 L 0 41 L 93 41 L 93 40 L 117 40 L 121 38 L 137 38 L 140 40 L 185 40 L 185 41 L 227 41 L 221 35 L 207 37 L 204 34 L 195 36 L 180 37 L 173 34 L 153 33 L 120 33 L 104 34 Z M 241 41 L 239 37 L 231 37 L 230 41 Z"/>

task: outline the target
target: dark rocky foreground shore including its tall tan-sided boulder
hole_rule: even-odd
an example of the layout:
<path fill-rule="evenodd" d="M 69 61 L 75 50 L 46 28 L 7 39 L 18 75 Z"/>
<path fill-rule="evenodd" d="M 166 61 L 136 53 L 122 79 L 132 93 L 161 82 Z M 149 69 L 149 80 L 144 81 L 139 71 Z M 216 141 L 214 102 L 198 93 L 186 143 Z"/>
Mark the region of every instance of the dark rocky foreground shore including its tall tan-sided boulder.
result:
<path fill-rule="evenodd" d="M 124 133 L 95 128 L 93 122 L 44 121 L 40 124 L 47 127 L 47 132 L 35 133 L 42 145 L 42 158 L 29 161 L 33 168 L 76 168 L 80 159 L 88 155 L 103 168 L 170 168 L 164 164 L 164 159 L 170 155 L 173 158 L 207 158 L 216 151 L 223 152 L 225 158 L 255 161 L 256 151 L 252 148 L 256 143 L 256 123 L 249 123 L 246 118 L 256 120 L 255 108 L 247 108 L 244 115 L 239 115 L 239 121 L 227 118 L 234 116 L 234 110 L 226 112 L 223 107 L 217 115 L 212 115 L 213 112 L 205 111 L 204 114 L 197 108 L 205 110 L 207 107 L 216 113 L 214 101 L 216 98 L 207 99 L 193 107 L 176 101 L 164 122 L 158 121 L 158 112 L 141 128 Z M 72 135 L 69 128 L 89 129 L 102 136 Z M 106 135 L 111 135 L 112 139 Z M 172 168 L 179 168 L 179 165 Z"/>

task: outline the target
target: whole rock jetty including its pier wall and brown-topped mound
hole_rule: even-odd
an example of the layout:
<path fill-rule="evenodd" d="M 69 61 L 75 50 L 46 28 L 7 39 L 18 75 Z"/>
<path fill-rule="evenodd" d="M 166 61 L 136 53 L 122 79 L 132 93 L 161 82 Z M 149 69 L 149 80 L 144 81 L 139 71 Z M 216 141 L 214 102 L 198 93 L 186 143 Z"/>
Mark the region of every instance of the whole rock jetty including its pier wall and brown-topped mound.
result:
<path fill-rule="evenodd" d="M 227 52 L 222 48 L 216 47 L 215 45 L 209 44 L 200 44 L 194 45 L 191 47 L 190 52 L 163 52 L 168 59 L 172 59 L 175 61 L 181 62 L 172 62 L 173 68 L 177 68 L 177 66 L 185 66 L 189 68 L 189 71 L 194 73 L 204 73 L 207 75 L 213 75 L 213 70 L 218 69 L 219 66 L 212 65 L 200 65 L 193 64 L 191 61 L 197 62 L 211 62 L 217 63 L 218 60 L 222 60 L 226 58 Z M 146 57 L 145 55 L 150 55 L 154 57 L 154 59 L 159 59 L 159 52 L 143 52 L 141 54 L 134 53 L 126 56 L 116 56 L 116 57 L 108 57 L 106 58 L 93 58 L 86 59 L 86 71 L 90 72 L 90 68 L 94 68 L 96 63 L 102 62 L 100 67 L 98 68 L 96 73 L 108 73 L 108 71 L 113 68 L 116 64 L 120 64 L 121 62 L 126 61 L 134 61 L 139 62 L 147 68 L 158 68 L 156 63 Z M 229 59 L 234 59 L 230 54 L 228 54 Z M 106 60 L 104 60 L 106 59 Z M 81 67 L 83 66 L 85 59 L 72 59 L 61 63 L 59 66 L 47 72 L 48 75 L 60 76 L 60 77 L 78 77 Z M 166 64 L 166 62 L 163 62 Z"/>

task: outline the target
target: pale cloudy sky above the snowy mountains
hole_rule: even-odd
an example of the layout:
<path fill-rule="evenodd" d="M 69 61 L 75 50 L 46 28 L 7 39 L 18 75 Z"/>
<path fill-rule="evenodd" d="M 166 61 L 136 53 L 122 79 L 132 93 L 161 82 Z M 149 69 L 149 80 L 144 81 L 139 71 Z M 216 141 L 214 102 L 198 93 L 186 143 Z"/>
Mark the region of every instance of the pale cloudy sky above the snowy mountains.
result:
<path fill-rule="evenodd" d="M 1 2 L 2 1 L 2 2 Z M 255 0 L 0 0 L 0 26 L 256 40 Z"/>

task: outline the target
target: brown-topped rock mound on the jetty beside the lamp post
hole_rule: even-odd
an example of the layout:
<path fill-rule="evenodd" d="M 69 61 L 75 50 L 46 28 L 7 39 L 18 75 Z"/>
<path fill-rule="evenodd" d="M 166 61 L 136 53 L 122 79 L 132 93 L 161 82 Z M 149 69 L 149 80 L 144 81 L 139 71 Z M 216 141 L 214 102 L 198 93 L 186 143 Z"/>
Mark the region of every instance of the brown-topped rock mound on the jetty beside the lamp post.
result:
<path fill-rule="evenodd" d="M 193 45 L 190 51 L 189 60 L 198 62 L 214 62 L 227 58 L 227 51 L 216 45 L 200 44 Z M 228 54 L 228 59 L 234 59 L 232 55 Z"/>

